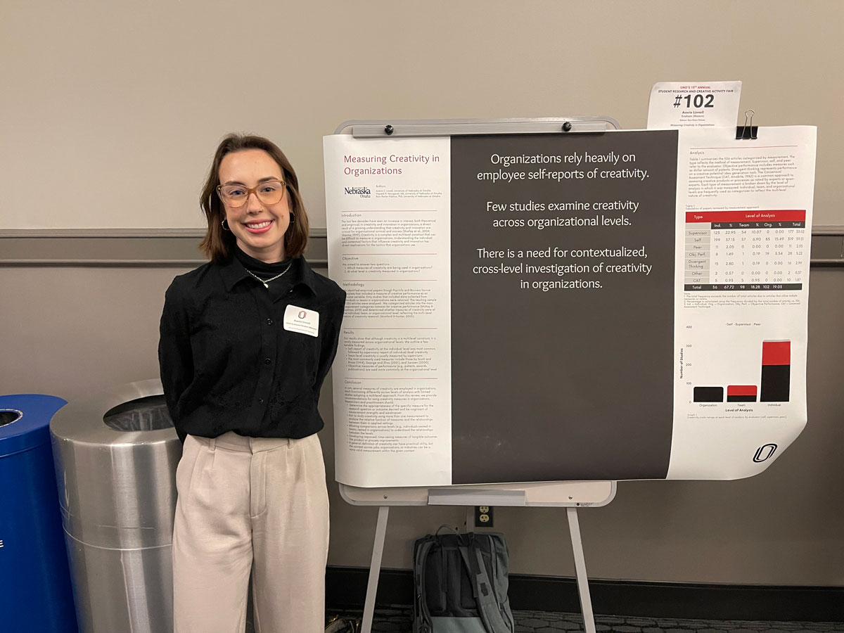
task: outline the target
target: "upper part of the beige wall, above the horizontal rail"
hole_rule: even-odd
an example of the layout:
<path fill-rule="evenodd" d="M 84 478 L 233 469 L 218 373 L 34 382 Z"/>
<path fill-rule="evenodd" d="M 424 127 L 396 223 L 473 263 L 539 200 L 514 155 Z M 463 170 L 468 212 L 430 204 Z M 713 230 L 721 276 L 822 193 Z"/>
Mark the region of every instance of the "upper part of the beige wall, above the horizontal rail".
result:
<path fill-rule="evenodd" d="M 276 139 L 325 226 L 349 119 L 613 116 L 657 81 L 742 79 L 762 125 L 819 126 L 816 225 L 844 225 L 832 0 L 5 0 L 0 229 L 193 227 L 219 138 Z"/>

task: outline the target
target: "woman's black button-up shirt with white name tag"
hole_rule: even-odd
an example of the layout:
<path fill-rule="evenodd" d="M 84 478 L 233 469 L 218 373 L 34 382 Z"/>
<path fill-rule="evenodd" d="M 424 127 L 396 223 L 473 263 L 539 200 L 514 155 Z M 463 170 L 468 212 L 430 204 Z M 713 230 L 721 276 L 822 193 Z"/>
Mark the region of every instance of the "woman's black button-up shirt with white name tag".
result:
<path fill-rule="evenodd" d="M 231 257 L 179 275 L 167 289 L 159 363 L 182 441 L 230 430 L 300 438 L 322 429 L 317 402 L 337 353 L 346 293 L 304 257 L 268 285 Z M 314 312 L 317 336 L 295 331 L 295 316 L 312 322 Z"/>

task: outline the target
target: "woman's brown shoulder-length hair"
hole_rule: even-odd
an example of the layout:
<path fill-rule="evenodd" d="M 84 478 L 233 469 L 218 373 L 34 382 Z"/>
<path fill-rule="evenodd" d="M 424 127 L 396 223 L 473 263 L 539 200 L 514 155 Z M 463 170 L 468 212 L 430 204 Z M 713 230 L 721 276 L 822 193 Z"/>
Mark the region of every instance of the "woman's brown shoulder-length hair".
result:
<path fill-rule="evenodd" d="M 308 216 L 299 194 L 299 179 L 296 177 L 293 165 L 290 165 L 290 161 L 278 145 L 267 138 L 250 134 L 229 134 L 220 141 L 217 151 L 214 152 L 214 161 L 211 163 L 211 170 L 208 171 L 208 180 L 205 181 L 205 187 L 199 198 L 199 204 L 205 212 L 205 219 L 208 220 L 208 230 L 205 232 L 203 241 L 199 243 L 199 248 L 208 259 L 220 262 L 229 257 L 231 247 L 235 244 L 235 235 L 222 226 L 225 209 L 217 193 L 217 186 L 219 185 L 219 164 L 223 161 L 223 157 L 243 149 L 262 149 L 281 167 L 290 197 L 291 214 L 290 225 L 284 234 L 284 253 L 287 257 L 299 257 L 305 252 L 305 246 L 308 243 Z"/>

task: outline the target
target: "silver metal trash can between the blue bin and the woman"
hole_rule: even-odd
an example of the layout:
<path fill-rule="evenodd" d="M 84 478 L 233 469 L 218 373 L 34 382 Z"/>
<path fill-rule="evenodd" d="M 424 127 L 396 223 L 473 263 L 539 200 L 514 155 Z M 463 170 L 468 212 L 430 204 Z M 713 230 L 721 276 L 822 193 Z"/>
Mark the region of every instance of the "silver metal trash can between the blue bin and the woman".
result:
<path fill-rule="evenodd" d="M 172 631 L 181 442 L 161 382 L 68 403 L 50 432 L 79 630 Z"/>

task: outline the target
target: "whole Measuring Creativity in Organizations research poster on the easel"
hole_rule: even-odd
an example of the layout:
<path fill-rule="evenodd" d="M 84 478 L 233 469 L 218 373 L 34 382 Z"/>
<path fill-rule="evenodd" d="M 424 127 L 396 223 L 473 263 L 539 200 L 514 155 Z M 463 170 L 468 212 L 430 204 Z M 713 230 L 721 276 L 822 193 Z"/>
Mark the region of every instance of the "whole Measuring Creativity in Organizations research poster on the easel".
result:
<path fill-rule="evenodd" d="M 806 421 L 814 128 L 762 132 L 325 138 L 338 481 L 766 468 Z"/>

